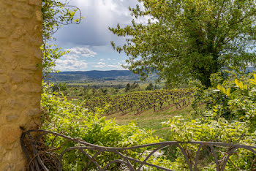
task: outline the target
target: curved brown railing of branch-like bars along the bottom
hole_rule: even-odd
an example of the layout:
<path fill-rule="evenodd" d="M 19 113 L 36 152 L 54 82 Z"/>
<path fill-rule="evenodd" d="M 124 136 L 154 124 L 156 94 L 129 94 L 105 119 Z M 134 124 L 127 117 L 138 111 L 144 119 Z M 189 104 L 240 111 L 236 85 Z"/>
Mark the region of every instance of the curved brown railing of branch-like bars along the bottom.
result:
<path fill-rule="evenodd" d="M 50 144 L 47 144 L 50 141 Z M 29 130 L 20 137 L 28 170 L 172 170 L 164 161 L 184 161 L 180 170 L 244 170 L 238 151 L 252 156 L 246 170 L 256 170 L 256 146 L 223 142 L 159 142 L 127 148 L 94 145 L 64 134 Z M 193 149 L 193 150 L 191 150 Z M 74 165 L 75 163 L 75 165 Z M 71 166 L 71 168 L 70 168 Z M 171 167 L 171 168 L 170 168 Z M 76 169 L 74 169 L 76 168 Z"/>

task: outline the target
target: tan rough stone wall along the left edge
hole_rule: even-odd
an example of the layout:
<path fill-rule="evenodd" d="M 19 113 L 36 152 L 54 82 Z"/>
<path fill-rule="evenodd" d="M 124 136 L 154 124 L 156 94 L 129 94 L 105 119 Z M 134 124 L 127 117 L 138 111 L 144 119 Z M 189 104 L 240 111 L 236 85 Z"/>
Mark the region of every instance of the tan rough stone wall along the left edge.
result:
<path fill-rule="evenodd" d="M 0 0 L 0 170 L 25 170 L 22 129 L 38 128 L 42 0 Z"/>

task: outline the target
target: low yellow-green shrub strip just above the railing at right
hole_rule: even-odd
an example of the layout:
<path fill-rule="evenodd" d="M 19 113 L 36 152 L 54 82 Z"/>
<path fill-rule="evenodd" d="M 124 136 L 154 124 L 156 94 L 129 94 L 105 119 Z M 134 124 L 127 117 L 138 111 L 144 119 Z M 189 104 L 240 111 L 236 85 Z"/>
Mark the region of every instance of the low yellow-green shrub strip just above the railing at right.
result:
<path fill-rule="evenodd" d="M 164 122 L 163 126 L 170 126 L 169 140 L 173 141 L 213 141 L 256 145 L 256 141 L 250 137 L 256 134 L 250 134 L 249 127 L 244 122 L 228 122 L 224 118 L 218 120 L 197 118 L 184 121 L 181 116 L 176 116 Z"/>

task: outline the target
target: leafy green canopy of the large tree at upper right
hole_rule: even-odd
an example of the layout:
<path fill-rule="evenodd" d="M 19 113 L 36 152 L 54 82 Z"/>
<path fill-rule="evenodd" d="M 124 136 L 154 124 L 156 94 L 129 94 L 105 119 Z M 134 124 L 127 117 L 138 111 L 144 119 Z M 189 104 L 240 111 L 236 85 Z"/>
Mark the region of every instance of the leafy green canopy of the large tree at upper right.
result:
<path fill-rule="evenodd" d="M 146 24 L 109 28 L 126 37 L 124 45 L 111 42 L 129 56 L 128 69 L 146 77 L 157 72 L 167 83 L 191 78 L 210 86 L 210 75 L 220 69 L 255 65 L 253 0 L 138 0 L 129 8 L 135 18 L 149 16 Z"/>

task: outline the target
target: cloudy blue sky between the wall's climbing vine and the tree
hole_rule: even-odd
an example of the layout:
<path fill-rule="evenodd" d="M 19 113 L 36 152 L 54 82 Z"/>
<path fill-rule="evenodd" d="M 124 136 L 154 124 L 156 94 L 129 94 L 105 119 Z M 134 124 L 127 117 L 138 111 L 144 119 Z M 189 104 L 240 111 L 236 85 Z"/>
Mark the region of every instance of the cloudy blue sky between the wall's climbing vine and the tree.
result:
<path fill-rule="evenodd" d="M 127 26 L 132 17 L 129 7 L 137 0 L 71 0 L 70 5 L 79 7 L 84 19 L 80 24 L 63 26 L 53 35 L 54 42 L 70 53 L 56 61 L 60 71 L 120 70 L 128 57 L 117 53 L 110 45 L 114 41 L 123 45 L 124 37 L 117 37 L 108 27 Z M 136 22 L 146 22 L 140 18 Z"/>

